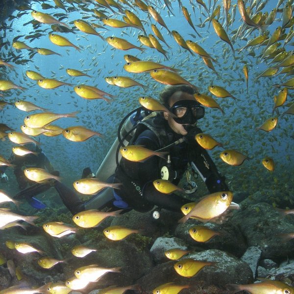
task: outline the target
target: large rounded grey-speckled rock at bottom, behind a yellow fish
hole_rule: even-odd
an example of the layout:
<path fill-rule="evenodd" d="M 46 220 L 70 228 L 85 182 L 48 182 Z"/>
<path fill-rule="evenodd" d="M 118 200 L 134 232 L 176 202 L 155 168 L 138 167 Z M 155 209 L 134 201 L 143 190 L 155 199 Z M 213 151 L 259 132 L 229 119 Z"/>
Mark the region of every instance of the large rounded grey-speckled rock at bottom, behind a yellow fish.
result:
<path fill-rule="evenodd" d="M 150 293 L 157 285 L 174 282 L 175 284 L 188 284 L 192 286 L 188 290 L 183 290 L 183 294 L 228 294 L 225 287 L 226 284 L 247 284 L 253 282 L 252 270 L 248 264 L 224 251 L 210 249 L 191 253 L 186 255 L 185 258 L 215 262 L 215 266 L 206 266 L 195 276 L 187 278 L 180 276 L 174 270 L 173 265 L 176 261 L 168 261 L 150 269 L 136 283 L 141 285 L 142 289 L 147 293 Z M 156 281 L 156 284 L 150 284 L 150 281 Z"/>

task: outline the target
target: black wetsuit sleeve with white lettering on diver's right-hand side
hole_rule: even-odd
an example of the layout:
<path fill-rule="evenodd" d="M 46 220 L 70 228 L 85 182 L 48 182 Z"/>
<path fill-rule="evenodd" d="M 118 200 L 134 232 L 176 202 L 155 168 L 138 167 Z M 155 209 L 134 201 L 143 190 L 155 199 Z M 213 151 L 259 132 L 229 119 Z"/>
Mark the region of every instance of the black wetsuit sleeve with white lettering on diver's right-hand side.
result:
<path fill-rule="evenodd" d="M 210 193 L 228 191 L 225 177 L 221 175 L 208 152 L 196 141 L 189 148 L 191 167 L 200 175 Z"/>

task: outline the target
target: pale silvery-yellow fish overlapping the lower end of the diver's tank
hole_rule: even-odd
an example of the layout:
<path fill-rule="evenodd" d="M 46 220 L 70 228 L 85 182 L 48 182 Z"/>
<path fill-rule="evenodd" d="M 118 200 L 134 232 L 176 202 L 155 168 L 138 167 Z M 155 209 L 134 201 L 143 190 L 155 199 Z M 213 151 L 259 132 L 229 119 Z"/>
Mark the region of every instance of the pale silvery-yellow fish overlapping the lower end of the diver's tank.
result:
<path fill-rule="evenodd" d="M 107 187 L 121 189 L 121 186 L 122 184 L 120 183 L 106 183 L 98 180 L 97 178 L 84 178 L 73 182 L 73 188 L 77 192 L 86 195 L 97 194 L 99 191 Z"/>

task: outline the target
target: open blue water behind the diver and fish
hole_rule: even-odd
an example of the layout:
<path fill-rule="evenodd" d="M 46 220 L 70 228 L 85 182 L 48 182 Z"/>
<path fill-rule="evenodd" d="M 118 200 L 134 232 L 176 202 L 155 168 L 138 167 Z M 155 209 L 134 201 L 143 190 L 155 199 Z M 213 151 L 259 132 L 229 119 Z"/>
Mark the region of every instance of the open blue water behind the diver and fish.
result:
<path fill-rule="evenodd" d="M 93 1 L 93 4 L 86 2 L 85 7 L 93 9 L 95 7 L 94 2 L 95 1 Z M 234 3 L 235 1 L 232 2 Z M 54 6 L 53 1 L 47 3 Z M 64 3 L 66 3 L 66 1 L 64 1 Z M 206 12 L 203 8 L 200 9 L 200 14 L 198 6 L 196 5 L 194 14 L 189 1 L 185 0 L 182 1 L 182 3 L 191 13 L 191 18 L 195 25 L 200 23 L 199 18 L 201 18 L 202 21 L 205 20 L 206 17 L 203 16 L 202 13 L 206 14 Z M 157 98 L 158 93 L 163 89 L 164 86 L 153 80 L 149 73 L 132 74 L 124 71 L 123 65 L 126 62 L 123 59 L 123 55 L 131 54 L 142 60 L 150 59 L 180 69 L 181 76 L 199 87 L 201 93 L 211 96 L 207 87 L 211 84 L 215 84 L 225 87 L 226 90 L 238 98 L 237 101 L 234 101 L 232 98 L 216 98 L 221 108 L 224 110 L 225 115 L 222 115 L 221 111 L 218 109 L 206 108 L 205 118 L 198 123 L 198 126 L 203 132 L 211 134 L 215 139 L 221 142 L 225 148 L 237 149 L 251 158 L 250 161 L 245 161 L 244 164 L 239 167 L 232 167 L 221 161 L 219 157 L 222 150 L 221 148 L 217 147 L 213 151 L 210 151 L 215 163 L 220 168 L 221 172 L 226 175 L 233 190 L 246 190 L 249 193 L 253 193 L 257 189 L 288 189 L 287 187 L 285 188 L 285 185 L 289 185 L 289 183 L 293 186 L 293 182 L 289 182 L 293 178 L 292 174 L 294 172 L 293 116 L 285 115 L 284 118 L 279 119 L 276 128 L 270 133 L 266 133 L 262 130 L 255 130 L 256 127 L 260 126 L 271 117 L 274 105 L 273 96 L 277 95 L 279 91 L 279 89 L 274 88 L 272 85 L 281 83 L 289 79 L 289 77 L 284 78 L 282 75 L 272 78 L 262 77 L 255 82 L 255 76 L 268 67 L 264 60 L 247 55 L 248 49 L 244 49 L 240 53 L 236 51 L 236 57 L 238 59 L 234 59 L 232 50 L 228 44 L 219 39 L 212 24 L 209 28 L 208 24 L 203 28 L 196 26 L 202 38 L 196 36 L 195 31 L 187 23 L 180 11 L 177 1 L 171 3 L 173 13 L 175 14 L 174 16 L 170 15 L 167 8 L 163 8 L 162 4 L 158 1 L 152 1 L 152 4 L 156 7 L 156 10 L 160 12 L 171 31 L 177 30 L 185 40 L 199 41 L 199 45 L 218 60 L 219 64 L 214 63 L 214 66 L 220 74 L 221 79 L 205 66 L 202 58 L 199 56 L 192 56 L 188 51 L 179 48 L 173 37 L 167 34 L 167 30 L 155 23 L 151 17 L 148 17 L 148 13 L 141 11 L 139 8 L 136 8 L 135 13 L 144 21 L 143 25 L 147 33 L 154 34 L 150 24 L 155 24 L 160 28 L 165 40 L 172 47 L 172 49 L 168 49 L 165 44 L 161 43 L 163 48 L 168 51 L 169 60 L 164 60 L 163 55 L 155 49 L 146 48 L 145 52 L 141 52 L 138 49 L 130 49 L 127 51 L 114 49 L 107 42 L 103 42 L 98 36 L 85 34 L 76 29 L 76 34 L 58 32 L 56 32 L 56 34 L 65 36 L 73 44 L 80 47 L 82 51 L 78 52 L 72 47 L 58 47 L 49 41 L 48 33 L 51 31 L 50 25 L 42 24 L 38 29 L 46 30 L 44 36 L 33 40 L 31 43 L 29 40 L 25 40 L 24 37 L 20 38 L 19 41 L 25 41 L 25 44 L 31 47 L 51 49 L 63 56 L 35 54 L 30 62 L 24 65 L 16 65 L 15 70 L 6 69 L 4 67 L 0 69 L 1 79 L 9 79 L 15 84 L 27 88 L 24 92 L 17 90 L 7 91 L 3 93 L 3 99 L 10 102 L 14 102 L 17 99 L 25 99 L 56 113 L 70 113 L 79 110 L 80 113 L 77 115 L 76 119 L 62 118 L 53 124 L 57 124 L 64 128 L 73 125 L 83 125 L 103 134 L 103 138 L 93 137 L 80 143 L 71 142 L 62 135 L 58 137 L 39 136 L 38 139 L 42 144 L 42 149 L 51 160 L 54 168 L 60 171 L 63 181 L 71 185 L 73 180 L 80 178 L 81 171 L 86 166 L 90 166 L 93 171 L 96 171 L 116 138 L 117 126 L 123 116 L 130 110 L 140 106 L 138 102 L 140 96 L 152 96 Z M 222 7 L 222 1 L 218 1 L 217 4 L 220 4 Z M 276 1 L 268 1 L 262 12 L 270 12 L 275 5 Z M 98 18 L 93 16 L 94 14 L 82 11 L 76 4 L 74 6 L 77 8 L 77 11 L 68 13 L 68 19 L 64 19 L 63 22 L 75 28 L 73 25 L 74 20 L 90 16 L 90 18 L 85 20 L 90 23 L 93 22 L 103 25 Z M 36 2 L 32 2 L 32 9 L 51 15 L 64 12 L 64 10 L 59 8 L 44 10 L 41 4 Z M 114 9 L 117 10 L 116 8 Z M 129 8 L 127 7 L 126 9 Z M 107 11 L 107 9 L 103 8 L 102 10 Z M 254 10 L 255 8 L 253 11 Z M 18 11 L 13 13 L 13 15 L 17 14 Z M 224 12 L 221 9 L 221 20 L 223 16 Z M 121 13 L 117 13 L 115 16 L 111 13 L 109 17 L 122 20 Z M 270 34 L 278 25 L 281 25 L 280 17 L 281 13 L 277 13 L 275 22 L 268 28 Z M 13 20 L 12 29 L 5 31 L 6 38 L 4 38 L 4 41 L 10 42 L 10 46 L 8 50 L 4 48 L 1 49 L 0 58 L 3 58 L 3 54 L 9 56 L 10 51 L 19 54 L 16 52 L 16 49 L 11 46 L 12 40 L 19 35 L 34 34 L 32 25 L 24 26 L 25 23 L 31 20 L 32 17 L 29 11 L 26 15 L 21 16 L 21 18 Z M 6 24 L 10 25 L 10 21 L 6 20 Z M 243 21 L 240 18 L 237 8 L 235 21 L 233 25 L 230 26 L 228 32 L 230 38 L 233 35 L 231 33 L 232 30 L 237 29 L 242 24 Z M 96 28 L 96 30 L 102 31 L 101 34 L 104 37 L 117 36 L 126 39 L 136 46 L 140 46 L 141 43 L 138 41 L 137 35 L 143 33 L 141 30 L 134 28 L 111 28 L 109 26 L 107 26 L 107 28 L 109 30 L 98 28 Z M 289 28 L 286 29 L 287 33 L 288 31 Z M 0 35 L 3 35 L 3 33 L 3 31 L 0 32 Z M 258 34 L 258 30 L 254 30 L 247 38 L 249 40 L 258 36 Z M 247 41 L 237 38 L 237 40 L 233 42 L 233 47 L 235 50 L 239 49 L 245 46 L 246 42 Z M 283 41 L 281 42 L 283 44 Z M 290 45 L 287 45 L 285 48 L 287 51 L 293 49 Z M 262 49 L 263 48 L 254 49 L 256 56 L 262 53 Z M 24 59 L 29 59 L 28 56 L 30 52 L 28 50 L 22 50 L 21 53 Z M 244 63 L 247 63 L 249 67 L 248 95 L 246 94 L 246 84 L 243 74 Z M 71 77 L 66 73 L 67 68 L 84 71 L 91 75 L 92 78 Z M 72 83 L 74 86 L 78 84 L 96 86 L 103 91 L 116 95 L 117 98 L 115 98 L 111 104 L 108 104 L 101 99 L 86 100 L 80 98 L 75 94 L 73 88 L 69 86 L 61 86 L 54 90 L 42 89 L 37 85 L 36 81 L 26 77 L 26 70 L 37 71 L 47 78 L 56 78 L 61 81 Z M 138 82 L 147 85 L 148 91 L 144 91 L 141 87 L 124 89 L 108 85 L 104 78 L 114 75 L 132 77 Z M 286 103 L 293 100 L 293 91 L 289 90 L 288 93 Z M 281 107 L 279 111 L 282 113 L 285 110 L 285 107 Z M 8 105 L 0 112 L 0 122 L 6 123 L 12 128 L 20 131 L 20 126 L 23 124 L 26 115 L 25 112 L 17 109 L 15 106 Z M 8 139 L 0 142 L 1 155 L 6 158 L 9 157 L 11 147 L 13 146 L 14 144 Z M 267 171 L 261 164 L 261 160 L 265 156 L 272 157 L 276 163 L 276 169 L 272 173 Z M 8 169 L 7 174 L 12 181 L 14 181 L 12 171 Z M 2 187 L 2 184 L 0 185 Z M 12 186 L 10 187 L 13 191 L 15 190 Z"/>

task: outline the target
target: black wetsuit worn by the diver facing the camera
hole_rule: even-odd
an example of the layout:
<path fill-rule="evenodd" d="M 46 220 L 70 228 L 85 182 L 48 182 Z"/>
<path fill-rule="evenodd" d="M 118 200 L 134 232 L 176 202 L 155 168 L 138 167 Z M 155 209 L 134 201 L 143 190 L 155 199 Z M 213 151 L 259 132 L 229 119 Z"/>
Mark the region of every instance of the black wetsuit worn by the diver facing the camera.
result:
<path fill-rule="evenodd" d="M 166 131 L 165 140 L 159 139 L 154 132 L 146 129 L 137 136 L 132 144 L 158 150 L 183 137 L 174 133 L 166 120 L 159 120 L 159 124 Z M 175 185 L 179 183 L 190 163 L 205 181 L 210 193 L 229 190 L 224 177 L 221 176 L 207 151 L 194 139 L 197 133 L 202 133 L 202 131 L 194 128 L 192 130 L 193 139 L 187 140 L 191 142 L 185 141 L 168 149 L 171 155 L 172 170 L 175 172 L 172 183 Z M 163 141 L 165 141 L 165 146 L 161 145 Z M 153 186 L 152 182 L 161 178 L 161 167 L 164 164 L 166 161 L 158 156 L 152 156 L 144 162 L 131 162 L 123 158 L 121 168 L 115 173 L 115 182 L 123 183 L 123 188 L 115 190 L 115 195 L 121 197 L 130 208 L 137 211 L 148 211 L 157 205 L 167 210 L 180 212 L 181 206 L 189 202 L 189 199 L 175 194 L 160 193 Z"/>

